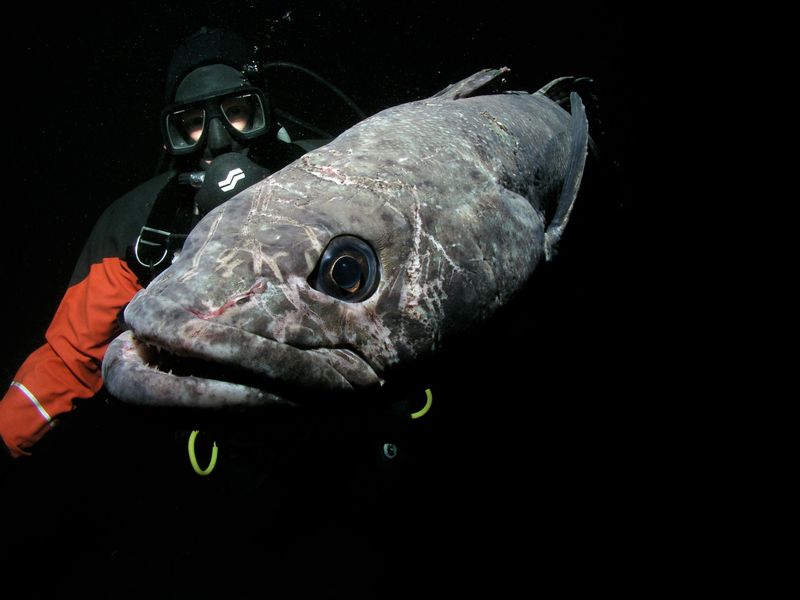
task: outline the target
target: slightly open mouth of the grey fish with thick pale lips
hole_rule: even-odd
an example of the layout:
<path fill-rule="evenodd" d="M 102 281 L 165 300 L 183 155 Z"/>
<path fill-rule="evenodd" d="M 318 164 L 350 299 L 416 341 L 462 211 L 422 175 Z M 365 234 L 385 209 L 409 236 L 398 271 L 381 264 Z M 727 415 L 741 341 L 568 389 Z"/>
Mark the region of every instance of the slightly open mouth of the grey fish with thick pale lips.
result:
<path fill-rule="evenodd" d="M 238 361 L 235 354 L 217 353 L 213 343 L 198 340 L 175 349 L 163 339 L 141 339 L 127 330 L 111 342 L 103 359 L 106 388 L 116 399 L 137 405 L 294 407 L 323 396 L 354 396 L 383 383 L 349 349 L 300 349 L 241 330 L 229 335 L 236 338 L 234 346 L 246 338 L 250 347 L 267 347 L 270 352 L 262 356 L 273 360 Z"/>

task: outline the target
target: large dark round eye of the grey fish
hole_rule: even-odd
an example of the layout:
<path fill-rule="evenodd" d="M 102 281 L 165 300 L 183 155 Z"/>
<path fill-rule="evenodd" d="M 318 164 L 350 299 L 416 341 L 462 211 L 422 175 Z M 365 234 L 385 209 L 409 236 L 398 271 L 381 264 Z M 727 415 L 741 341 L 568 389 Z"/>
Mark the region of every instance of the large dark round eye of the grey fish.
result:
<path fill-rule="evenodd" d="M 315 290 L 346 302 L 366 300 L 375 292 L 379 280 L 375 251 L 352 235 L 333 238 L 308 277 Z"/>

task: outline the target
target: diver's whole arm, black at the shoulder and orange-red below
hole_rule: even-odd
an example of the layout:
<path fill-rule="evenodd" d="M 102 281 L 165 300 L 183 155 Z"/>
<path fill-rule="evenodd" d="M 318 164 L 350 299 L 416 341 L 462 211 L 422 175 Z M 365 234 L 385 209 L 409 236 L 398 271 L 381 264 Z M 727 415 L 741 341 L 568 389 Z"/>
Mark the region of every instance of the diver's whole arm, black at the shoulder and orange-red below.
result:
<path fill-rule="evenodd" d="M 45 334 L 46 343 L 22 364 L 0 400 L 0 436 L 15 457 L 103 385 L 100 366 L 118 333 L 120 310 L 142 288 L 125 261 L 155 197 L 174 175 L 167 172 L 109 205 L 76 261 L 69 287 Z M 40 410 L 41 408 L 41 410 Z"/>

